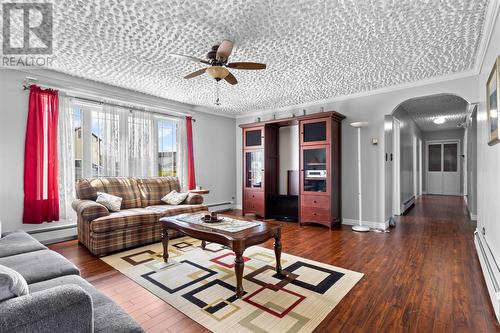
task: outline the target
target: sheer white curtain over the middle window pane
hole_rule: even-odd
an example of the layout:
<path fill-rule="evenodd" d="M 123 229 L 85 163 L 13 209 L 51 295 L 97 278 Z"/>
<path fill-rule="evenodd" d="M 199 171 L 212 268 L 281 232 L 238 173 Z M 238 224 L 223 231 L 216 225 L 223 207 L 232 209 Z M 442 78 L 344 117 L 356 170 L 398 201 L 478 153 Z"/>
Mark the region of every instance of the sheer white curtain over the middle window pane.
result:
<path fill-rule="evenodd" d="M 128 174 L 133 177 L 155 176 L 157 136 L 153 114 L 130 111 L 128 115 Z"/>

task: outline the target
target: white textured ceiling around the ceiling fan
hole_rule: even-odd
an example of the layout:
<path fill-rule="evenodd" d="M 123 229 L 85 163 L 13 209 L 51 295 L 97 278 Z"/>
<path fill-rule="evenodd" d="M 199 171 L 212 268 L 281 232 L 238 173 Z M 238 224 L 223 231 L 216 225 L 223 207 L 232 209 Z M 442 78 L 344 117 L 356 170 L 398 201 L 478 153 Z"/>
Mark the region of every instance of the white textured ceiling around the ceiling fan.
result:
<path fill-rule="evenodd" d="M 54 2 L 50 68 L 70 75 L 239 115 L 472 69 L 486 0 Z M 224 38 L 239 84 L 183 76 Z"/>

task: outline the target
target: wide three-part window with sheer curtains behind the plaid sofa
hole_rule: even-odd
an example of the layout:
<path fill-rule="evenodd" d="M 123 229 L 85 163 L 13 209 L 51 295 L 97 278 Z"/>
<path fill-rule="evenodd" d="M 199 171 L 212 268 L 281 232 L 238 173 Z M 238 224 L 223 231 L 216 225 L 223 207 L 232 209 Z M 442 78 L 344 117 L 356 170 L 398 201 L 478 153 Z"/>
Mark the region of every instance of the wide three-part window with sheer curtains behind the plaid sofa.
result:
<path fill-rule="evenodd" d="M 74 102 L 75 178 L 177 176 L 175 118 Z"/>

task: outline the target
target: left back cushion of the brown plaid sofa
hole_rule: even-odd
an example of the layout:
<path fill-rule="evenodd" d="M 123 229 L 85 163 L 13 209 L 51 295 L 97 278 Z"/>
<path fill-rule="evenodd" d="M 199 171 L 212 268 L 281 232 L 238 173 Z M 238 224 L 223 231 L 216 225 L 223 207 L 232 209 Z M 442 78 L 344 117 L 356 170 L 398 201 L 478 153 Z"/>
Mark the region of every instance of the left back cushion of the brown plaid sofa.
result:
<path fill-rule="evenodd" d="M 109 193 L 122 198 L 121 209 L 141 207 L 141 196 L 134 178 L 84 178 L 76 183 L 78 199 L 96 201 L 97 192 Z"/>

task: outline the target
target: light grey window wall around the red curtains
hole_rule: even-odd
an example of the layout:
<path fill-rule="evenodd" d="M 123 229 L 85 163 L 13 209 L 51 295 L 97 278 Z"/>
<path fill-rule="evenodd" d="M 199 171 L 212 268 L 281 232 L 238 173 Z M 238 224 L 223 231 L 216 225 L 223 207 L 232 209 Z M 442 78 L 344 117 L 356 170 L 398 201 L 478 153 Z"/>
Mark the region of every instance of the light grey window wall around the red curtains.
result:
<path fill-rule="evenodd" d="M 23 214 L 23 169 L 24 138 L 28 112 L 28 92 L 22 90 L 26 76 L 36 77 L 44 82 L 53 83 L 67 89 L 81 89 L 100 96 L 107 96 L 129 102 L 142 101 L 157 107 L 186 112 L 194 115 L 193 125 L 194 155 L 197 183 L 211 190 L 206 196 L 207 203 L 220 203 L 235 197 L 234 142 L 235 120 L 232 118 L 209 115 L 192 111 L 183 105 L 145 94 L 112 87 L 88 80 L 46 70 L 25 73 L 17 70 L 0 70 L 0 219 L 3 230 L 34 230 L 75 221 L 60 221 L 41 225 L 22 224 Z M 75 229 L 37 234 L 40 240 L 75 235 Z"/>

